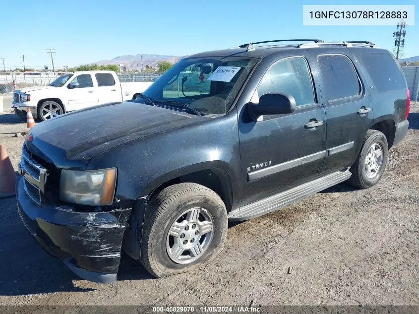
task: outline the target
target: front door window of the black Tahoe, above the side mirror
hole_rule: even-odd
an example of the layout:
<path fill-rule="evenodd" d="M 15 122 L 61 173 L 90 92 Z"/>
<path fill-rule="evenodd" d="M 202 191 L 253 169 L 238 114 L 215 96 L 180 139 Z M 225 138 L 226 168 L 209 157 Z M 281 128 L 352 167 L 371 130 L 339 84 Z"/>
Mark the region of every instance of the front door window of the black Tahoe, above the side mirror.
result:
<path fill-rule="evenodd" d="M 288 93 L 297 106 L 313 104 L 313 84 L 305 59 L 289 58 L 272 65 L 257 88 L 259 97 L 268 93 Z"/>

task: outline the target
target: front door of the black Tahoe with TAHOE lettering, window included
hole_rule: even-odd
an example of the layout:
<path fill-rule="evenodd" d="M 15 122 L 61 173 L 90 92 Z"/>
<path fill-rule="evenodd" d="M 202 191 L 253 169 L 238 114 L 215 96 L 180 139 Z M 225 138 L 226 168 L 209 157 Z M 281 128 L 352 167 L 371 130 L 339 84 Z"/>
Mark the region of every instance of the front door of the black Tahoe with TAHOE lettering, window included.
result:
<path fill-rule="evenodd" d="M 316 101 L 304 55 L 280 59 L 263 75 L 251 102 L 267 93 L 288 93 L 296 111 L 247 120 L 240 115 L 241 206 L 318 177 L 326 156 L 325 111 Z"/>

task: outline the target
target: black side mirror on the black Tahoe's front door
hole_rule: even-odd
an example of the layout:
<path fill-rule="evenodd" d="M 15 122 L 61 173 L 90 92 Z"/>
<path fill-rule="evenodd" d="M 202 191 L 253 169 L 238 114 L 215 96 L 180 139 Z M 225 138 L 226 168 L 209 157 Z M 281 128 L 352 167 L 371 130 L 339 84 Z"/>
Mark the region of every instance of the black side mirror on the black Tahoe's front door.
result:
<path fill-rule="evenodd" d="M 248 104 L 248 111 L 253 120 L 262 115 L 291 114 L 296 110 L 296 100 L 287 93 L 270 93 L 260 96 L 259 104 Z"/>

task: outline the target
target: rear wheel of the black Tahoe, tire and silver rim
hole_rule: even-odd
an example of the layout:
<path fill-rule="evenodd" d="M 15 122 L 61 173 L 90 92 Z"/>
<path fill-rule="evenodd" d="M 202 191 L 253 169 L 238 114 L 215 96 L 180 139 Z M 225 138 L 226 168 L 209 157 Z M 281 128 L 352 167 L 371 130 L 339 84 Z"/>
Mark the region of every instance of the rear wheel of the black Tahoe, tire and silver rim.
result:
<path fill-rule="evenodd" d="M 380 181 L 388 159 L 388 144 L 385 135 L 377 130 L 368 130 L 361 151 L 351 167 L 348 183 L 357 188 L 370 188 Z"/>

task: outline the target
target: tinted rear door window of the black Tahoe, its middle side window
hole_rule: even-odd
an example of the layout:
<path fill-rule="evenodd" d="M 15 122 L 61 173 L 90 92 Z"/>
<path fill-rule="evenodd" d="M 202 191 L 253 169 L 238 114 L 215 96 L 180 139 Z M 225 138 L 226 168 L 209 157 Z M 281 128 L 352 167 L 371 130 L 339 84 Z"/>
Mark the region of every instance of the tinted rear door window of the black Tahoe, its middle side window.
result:
<path fill-rule="evenodd" d="M 358 75 L 351 60 L 343 55 L 318 56 L 320 70 L 326 88 L 327 100 L 359 95 Z"/>

